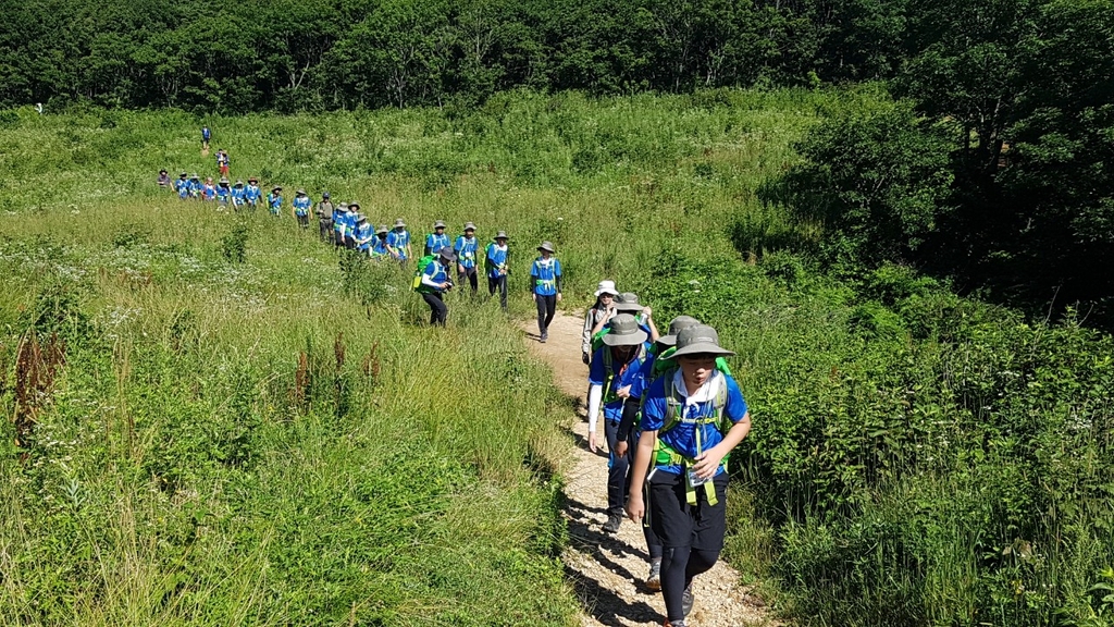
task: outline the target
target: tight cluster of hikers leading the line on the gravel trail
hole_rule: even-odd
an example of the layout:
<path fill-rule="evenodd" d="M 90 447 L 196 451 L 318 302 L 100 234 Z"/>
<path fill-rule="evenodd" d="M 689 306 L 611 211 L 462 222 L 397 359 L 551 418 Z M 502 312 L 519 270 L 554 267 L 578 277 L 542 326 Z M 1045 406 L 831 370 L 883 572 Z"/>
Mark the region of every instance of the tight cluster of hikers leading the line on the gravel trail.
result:
<path fill-rule="evenodd" d="M 603 411 L 607 521 L 624 511 L 643 523 L 646 585 L 661 590 L 666 627 L 685 627 L 692 582 L 719 560 L 726 531 L 731 451 L 751 430 L 750 413 L 716 330 L 688 316 L 661 335 L 635 293 L 600 281 L 584 321 L 588 365 L 588 448 Z"/>

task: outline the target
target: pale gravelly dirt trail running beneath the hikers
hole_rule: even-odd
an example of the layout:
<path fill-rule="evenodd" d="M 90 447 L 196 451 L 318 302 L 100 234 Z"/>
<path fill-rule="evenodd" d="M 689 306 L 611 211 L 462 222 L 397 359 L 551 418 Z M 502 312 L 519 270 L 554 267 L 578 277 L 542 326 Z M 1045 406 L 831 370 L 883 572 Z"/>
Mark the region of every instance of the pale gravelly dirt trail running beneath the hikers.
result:
<path fill-rule="evenodd" d="M 537 325 L 522 326 L 530 351 L 554 368 L 557 385 L 579 399 L 580 419 L 573 434 L 576 463 L 565 478 L 570 546 L 565 551 L 565 570 L 576 586 L 586 627 L 659 626 L 665 620 L 661 592 L 645 586 L 649 570 L 646 543 L 641 529 L 629 519 L 616 534 L 603 530 L 607 520 L 607 454 L 588 451 L 585 408 L 588 370 L 580 360 L 583 318 L 558 312 L 549 327 L 549 340 L 538 341 Z M 603 430 L 599 432 L 603 438 Z M 691 626 L 739 627 L 771 625 L 760 600 L 739 583 L 739 573 L 724 562 L 695 579 L 696 604 L 688 617 Z"/>

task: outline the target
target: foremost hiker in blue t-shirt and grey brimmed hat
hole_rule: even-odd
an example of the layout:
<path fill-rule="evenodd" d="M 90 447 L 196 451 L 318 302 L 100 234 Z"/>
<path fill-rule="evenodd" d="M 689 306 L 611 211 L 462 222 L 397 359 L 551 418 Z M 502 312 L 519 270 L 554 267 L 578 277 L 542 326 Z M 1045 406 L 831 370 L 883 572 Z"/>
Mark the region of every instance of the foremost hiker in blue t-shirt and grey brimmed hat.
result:
<path fill-rule="evenodd" d="M 664 547 L 662 597 L 672 627 L 684 627 L 692 610 L 693 578 L 720 558 L 725 461 L 751 431 L 739 385 L 715 367 L 716 357 L 729 355 L 734 353 L 720 347 L 712 327 L 682 329 L 676 367 L 654 379 L 643 398 L 626 511 L 636 522 L 648 515 Z"/>

